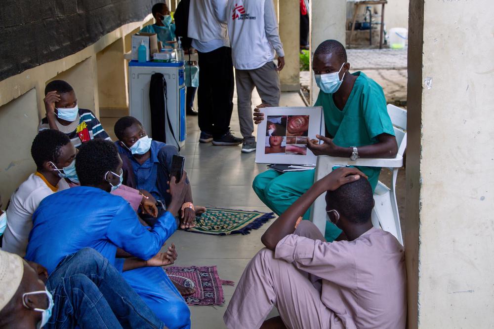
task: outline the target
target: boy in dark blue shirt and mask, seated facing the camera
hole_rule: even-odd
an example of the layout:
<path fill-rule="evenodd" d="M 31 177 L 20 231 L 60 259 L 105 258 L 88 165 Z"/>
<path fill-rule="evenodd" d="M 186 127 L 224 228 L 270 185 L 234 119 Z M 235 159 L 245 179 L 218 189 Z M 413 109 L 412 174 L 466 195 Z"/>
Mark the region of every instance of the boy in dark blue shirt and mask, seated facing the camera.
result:
<path fill-rule="evenodd" d="M 137 189 L 145 189 L 168 207 L 170 193 L 171 161 L 173 155 L 179 155 L 178 149 L 172 145 L 153 141 L 148 137 L 142 124 L 132 116 L 124 116 L 115 123 L 115 135 L 119 139 L 115 142 L 122 158 L 127 158 L 131 168 L 127 168 L 127 176 L 133 176 Z M 204 212 L 204 207 L 195 209 L 192 201 L 192 190 L 187 184 L 187 193 L 181 209 L 181 228 L 195 226 L 196 211 Z M 149 221 L 146 217 L 144 220 Z M 150 221 L 152 224 L 154 220 Z"/>

